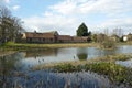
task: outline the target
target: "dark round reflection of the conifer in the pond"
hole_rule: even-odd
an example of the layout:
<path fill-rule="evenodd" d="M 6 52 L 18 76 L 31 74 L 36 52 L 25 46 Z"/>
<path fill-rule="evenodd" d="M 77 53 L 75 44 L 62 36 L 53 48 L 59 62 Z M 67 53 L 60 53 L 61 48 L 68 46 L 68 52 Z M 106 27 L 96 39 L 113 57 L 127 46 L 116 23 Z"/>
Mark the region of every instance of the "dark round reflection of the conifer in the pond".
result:
<path fill-rule="evenodd" d="M 77 57 L 80 61 L 87 59 L 87 57 L 88 57 L 87 48 L 78 48 L 77 50 Z"/>

